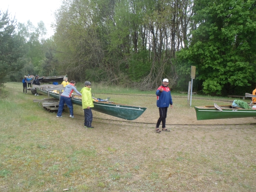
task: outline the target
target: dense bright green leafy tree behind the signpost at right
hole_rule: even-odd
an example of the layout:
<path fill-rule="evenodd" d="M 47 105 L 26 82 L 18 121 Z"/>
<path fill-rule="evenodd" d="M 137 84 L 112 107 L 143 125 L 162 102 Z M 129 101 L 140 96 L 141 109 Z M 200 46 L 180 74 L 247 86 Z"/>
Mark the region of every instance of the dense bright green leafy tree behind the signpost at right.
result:
<path fill-rule="evenodd" d="M 195 0 L 194 11 L 197 28 L 192 31 L 189 48 L 178 53 L 180 64 L 185 63 L 180 70 L 186 73 L 185 68 L 195 65 L 198 82 L 207 94 L 254 85 L 255 1 Z"/>

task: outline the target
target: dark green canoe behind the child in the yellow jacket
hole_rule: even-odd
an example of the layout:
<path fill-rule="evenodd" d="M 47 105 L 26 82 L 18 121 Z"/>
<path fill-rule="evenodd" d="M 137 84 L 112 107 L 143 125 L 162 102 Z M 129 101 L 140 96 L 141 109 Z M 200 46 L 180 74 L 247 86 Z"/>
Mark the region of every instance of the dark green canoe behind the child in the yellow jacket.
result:
<path fill-rule="evenodd" d="M 36 88 L 36 89 L 37 89 L 37 93 L 48 95 L 47 91 L 41 90 L 39 88 Z M 58 93 L 49 92 L 49 96 L 55 99 L 59 99 Z M 71 97 L 71 101 L 75 105 L 82 106 L 81 98 Z M 105 113 L 111 116 L 116 116 L 116 117 L 127 119 L 127 120 L 137 119 L 147 109 L 147 108 L 135 107 L 131 105 L 118 104 L 111 101 L 104 101 L 104 102 L 94 101 L 93 105 L 94 107 L 92 108 L 92 110 L 94 111 L 99 111 L 101 113 Z"/>

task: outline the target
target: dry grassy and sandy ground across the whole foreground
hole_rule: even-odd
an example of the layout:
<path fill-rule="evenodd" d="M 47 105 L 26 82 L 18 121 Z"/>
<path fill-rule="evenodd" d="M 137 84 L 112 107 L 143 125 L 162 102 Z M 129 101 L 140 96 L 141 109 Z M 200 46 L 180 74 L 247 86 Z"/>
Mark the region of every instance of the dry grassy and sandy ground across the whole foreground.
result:
<path fill-rule="evenodd" d="M 148 109 L 132 122 L 93 111 L 95 128 L 89 130 L 81 107 L 74 106 L 74 119 L 67 112 L 56 118 L 32 101 L 46 96 L 6 84 L 0 94 L 0 192 L 256 191 L 255 119 L 207 125 L 196 121 L 185 94 L 173 93 L 166 119 L 171 132 L 157 134 L 154 91 L 92 89 L 95 97 Z M 193 105 L 232 100 L 196 97 Z"/>

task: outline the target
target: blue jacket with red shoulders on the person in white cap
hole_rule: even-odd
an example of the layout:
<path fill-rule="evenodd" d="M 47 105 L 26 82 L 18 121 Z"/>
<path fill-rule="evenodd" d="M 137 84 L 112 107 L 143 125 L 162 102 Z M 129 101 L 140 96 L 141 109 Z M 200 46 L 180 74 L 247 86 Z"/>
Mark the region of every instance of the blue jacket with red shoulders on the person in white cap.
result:
<path fill-rule="evenodd" d="M 160 89 L 163 89 L 163 92 L 161 92 Z M 163 85 L 161 85 L 160 87 L 158 87 L 156 95 L 158 108 L 168 108 L 170 104 L 172 105 L 172 96 L 169 87 L 164 87 Z"/>

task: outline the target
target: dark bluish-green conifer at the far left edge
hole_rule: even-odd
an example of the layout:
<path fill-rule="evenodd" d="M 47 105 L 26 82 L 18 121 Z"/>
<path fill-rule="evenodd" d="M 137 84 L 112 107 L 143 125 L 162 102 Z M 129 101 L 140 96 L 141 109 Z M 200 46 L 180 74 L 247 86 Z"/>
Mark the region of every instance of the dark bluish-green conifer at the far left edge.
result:
<path fill-rule="evenodd" d="M 20 59 L 24 55 L 25 39 L 15 34 L 16 20 L 0 10 L 0 87 L 6 82 L 8 73 L 23 67 Z"/>

